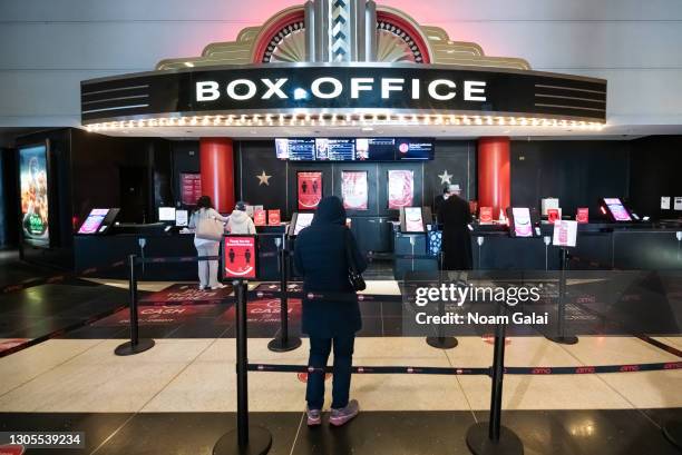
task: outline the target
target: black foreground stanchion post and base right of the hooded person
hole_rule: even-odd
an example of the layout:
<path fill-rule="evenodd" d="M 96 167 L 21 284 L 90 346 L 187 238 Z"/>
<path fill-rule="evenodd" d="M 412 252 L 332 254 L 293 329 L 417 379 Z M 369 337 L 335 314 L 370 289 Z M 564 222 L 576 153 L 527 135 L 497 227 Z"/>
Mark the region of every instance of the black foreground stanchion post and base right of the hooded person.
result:
<path fill-rule="evenodd" d="M 490 421 L 479 422 L 467 432 L 467 446 L 475 455 L 523 455 L 524 444 L 509 428 L 501 425 L 501 399 L 505 376 L 505 325 L 495 330 L 493 354 Z"/>

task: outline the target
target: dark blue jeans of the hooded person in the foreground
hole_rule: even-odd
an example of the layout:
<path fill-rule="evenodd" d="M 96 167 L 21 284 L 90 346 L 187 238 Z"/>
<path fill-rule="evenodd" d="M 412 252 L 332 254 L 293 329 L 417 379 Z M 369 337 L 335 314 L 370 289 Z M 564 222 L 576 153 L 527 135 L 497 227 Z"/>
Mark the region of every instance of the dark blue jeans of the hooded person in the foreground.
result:
<path fill-rule="evenodd" d="M 308 365 L 315 368 L 308 374 L 305 400 L 310 409 L 322 409 L 324 405 L 324 367 L 334 347 L 334 369 L 332 377 L 332 407 L 348 406 L 351 369 L 353 365 L 353 345 L 355 335 L 334 338 L 310 338 L 310 359 Z"/>

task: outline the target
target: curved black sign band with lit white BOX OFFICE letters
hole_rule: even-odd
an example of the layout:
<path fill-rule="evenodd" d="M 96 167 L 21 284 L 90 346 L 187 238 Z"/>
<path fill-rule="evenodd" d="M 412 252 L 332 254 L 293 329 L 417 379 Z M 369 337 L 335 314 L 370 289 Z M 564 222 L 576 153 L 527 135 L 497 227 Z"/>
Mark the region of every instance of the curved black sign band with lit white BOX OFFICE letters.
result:
<path fill-rule="evenodd" d="M 606 81 L 413 63 L 253 65 L 89 80 L 81 83 L 81 107 L 85 125 L 164 116 L 349 111 L 604 121 Z"/>

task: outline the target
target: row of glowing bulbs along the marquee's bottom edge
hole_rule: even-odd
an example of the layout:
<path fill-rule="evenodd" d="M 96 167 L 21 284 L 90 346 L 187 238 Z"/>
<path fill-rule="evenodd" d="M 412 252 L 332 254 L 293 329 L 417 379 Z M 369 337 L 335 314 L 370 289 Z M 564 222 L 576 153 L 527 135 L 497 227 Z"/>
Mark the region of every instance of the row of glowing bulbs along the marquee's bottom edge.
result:
<path fill-rule="evenodd" d="M 86 125 L 88 131 L 158 127 L 295 127 L 295 126 L 504 126 L 601 130 L 604 123 L 554 118 L 461 115 L 227 115 L 164 117 Z"/>

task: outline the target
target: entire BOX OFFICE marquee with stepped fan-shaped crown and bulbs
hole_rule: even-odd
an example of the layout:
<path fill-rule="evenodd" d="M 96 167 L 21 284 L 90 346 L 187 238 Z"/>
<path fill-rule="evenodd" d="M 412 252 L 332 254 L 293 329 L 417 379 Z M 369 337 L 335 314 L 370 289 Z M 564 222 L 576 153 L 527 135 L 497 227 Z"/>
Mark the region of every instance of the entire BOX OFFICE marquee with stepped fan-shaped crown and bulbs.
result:
<path fill-rule="evenodd" d="M 182 126 L 601 128 L 606 81 L 485 56 L 372 0 L 288 8 L 201 57 L 81 82 L 90 130 Z"/>

